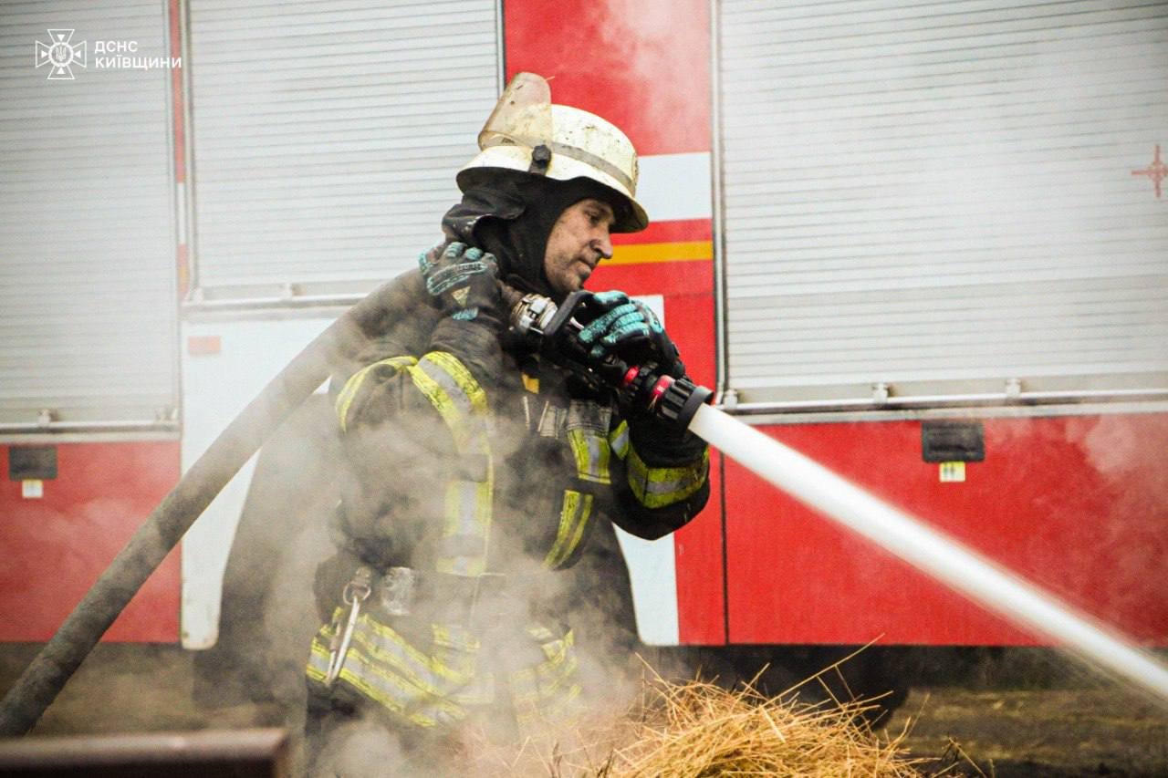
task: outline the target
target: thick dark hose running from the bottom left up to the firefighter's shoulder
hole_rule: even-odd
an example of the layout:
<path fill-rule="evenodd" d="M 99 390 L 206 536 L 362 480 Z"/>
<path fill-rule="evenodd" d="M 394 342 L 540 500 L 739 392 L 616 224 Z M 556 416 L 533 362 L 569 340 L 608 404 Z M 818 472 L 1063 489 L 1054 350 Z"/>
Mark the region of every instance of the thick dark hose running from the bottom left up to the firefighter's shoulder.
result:
<path fill-rule="evenodd" d="M 384 332 L 403 308 L 385 284 L 317 336 L 179 480 L 0 701 L 0 736 L 30 730 L 166 555 L 241 467 L 339 360 Z"/>

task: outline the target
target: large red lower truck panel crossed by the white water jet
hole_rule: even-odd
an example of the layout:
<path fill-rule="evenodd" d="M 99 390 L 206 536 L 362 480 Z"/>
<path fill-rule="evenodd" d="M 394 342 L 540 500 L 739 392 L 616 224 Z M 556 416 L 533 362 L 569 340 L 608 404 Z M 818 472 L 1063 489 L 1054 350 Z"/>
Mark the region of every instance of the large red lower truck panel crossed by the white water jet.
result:
<path fill-rule="evenodd" d="M 922 460 L 918 422 L 765 431 L 1104 621 L 1168 644 L 1168 416 L 986 419 L 986 459 L 965 482 L 940 482 Z M 739 465 L 725 479 L 731 642 L 1035 642 Z"/>

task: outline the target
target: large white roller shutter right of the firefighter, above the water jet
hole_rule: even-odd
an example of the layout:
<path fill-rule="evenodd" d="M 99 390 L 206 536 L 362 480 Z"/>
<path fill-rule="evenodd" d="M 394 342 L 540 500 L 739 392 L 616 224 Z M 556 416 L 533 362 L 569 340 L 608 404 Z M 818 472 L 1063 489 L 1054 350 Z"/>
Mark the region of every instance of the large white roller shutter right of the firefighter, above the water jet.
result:
<path fill-rule="evenodd" d="M 730 385 L 763 403 L 1168 388 L 1163 2 L 719 18 Z"/>

